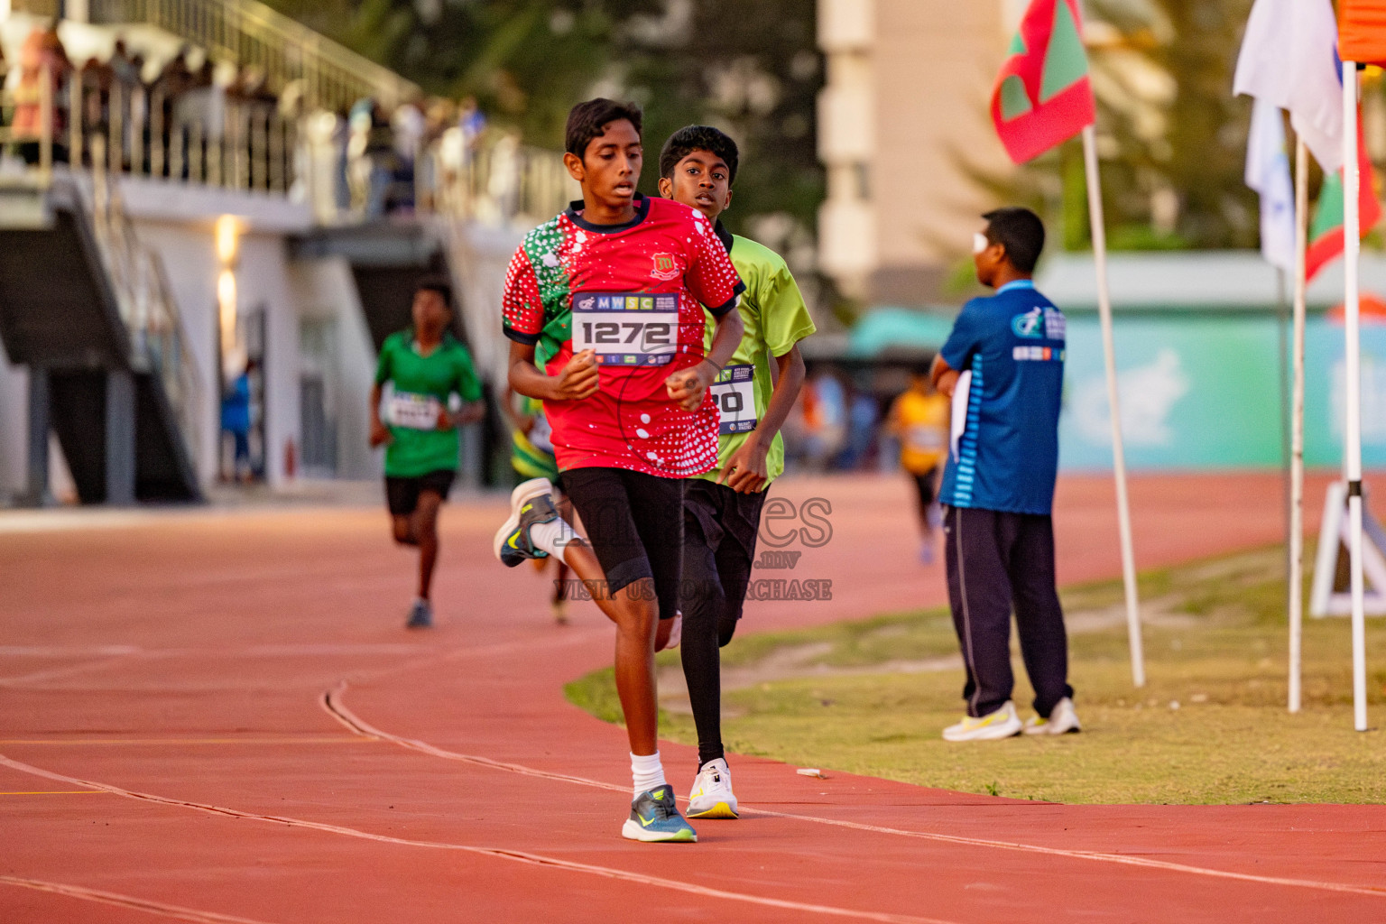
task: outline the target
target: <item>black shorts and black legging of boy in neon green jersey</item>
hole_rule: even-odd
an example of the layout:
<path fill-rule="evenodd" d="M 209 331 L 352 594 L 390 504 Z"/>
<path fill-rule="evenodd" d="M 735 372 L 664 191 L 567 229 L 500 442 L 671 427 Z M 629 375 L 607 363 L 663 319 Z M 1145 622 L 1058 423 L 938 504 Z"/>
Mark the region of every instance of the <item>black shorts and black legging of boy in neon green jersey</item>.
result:
<path fill-rule="evenodd" d="M 703 478 L 683 497 L 683 677 L 701 767 L 723 756 L 722 655 L 742 618 L 765 493 L 742 495 Z"/>

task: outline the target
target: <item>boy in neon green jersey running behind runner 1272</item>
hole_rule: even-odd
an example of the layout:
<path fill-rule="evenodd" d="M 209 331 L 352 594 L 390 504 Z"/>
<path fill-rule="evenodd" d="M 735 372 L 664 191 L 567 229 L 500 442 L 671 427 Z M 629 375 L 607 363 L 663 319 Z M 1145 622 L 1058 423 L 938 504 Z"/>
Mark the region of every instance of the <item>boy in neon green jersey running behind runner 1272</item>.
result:
<path fill-rule="evenodd" d="M 798 341 L 815 331 L 784 260 L 718 220 L 732 204 L 739 159 L 732 139 L 699 125 L 676 132 L 660 154 L 660 194 L 715 223 L 747 287 L 739 306 L 746 332 L 711 389 L 722 414 L 718 468 L 689 479 L 683 497 L 682 658 L 699 733 L 690 819 L 737 816 L 722 748 L 718 648 L 732 640 L 742 616 L 761 507 L 769 483 L 784 471 L 779 431 L 804 384 Z M 773 378 L 771 363 L 778 367 Z"/>

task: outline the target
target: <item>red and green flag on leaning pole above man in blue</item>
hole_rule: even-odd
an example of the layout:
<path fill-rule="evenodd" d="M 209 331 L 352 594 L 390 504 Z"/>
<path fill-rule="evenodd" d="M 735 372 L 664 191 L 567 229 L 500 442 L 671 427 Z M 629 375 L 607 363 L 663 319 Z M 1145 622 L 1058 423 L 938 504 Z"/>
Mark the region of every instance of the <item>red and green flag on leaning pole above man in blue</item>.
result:
<path fill-rule="evenodd" d="M 1078 0 L 1031 0 L 991 93 L 991 118 L 1016 163 L 1096 122 Z"/>

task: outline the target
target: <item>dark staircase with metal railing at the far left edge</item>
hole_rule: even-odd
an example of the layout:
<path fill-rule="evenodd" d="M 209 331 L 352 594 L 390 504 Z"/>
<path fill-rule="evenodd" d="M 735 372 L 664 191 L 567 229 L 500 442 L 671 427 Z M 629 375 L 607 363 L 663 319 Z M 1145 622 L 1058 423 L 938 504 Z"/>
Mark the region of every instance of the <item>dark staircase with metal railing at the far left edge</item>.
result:
<path fill-rule="evenodd" d="M 47 496 L 50 431 L 82 503 L 201 500 L 200 380 L 116 190 L 98 168 L 0 197 L 0 339 L 29 370 L 28 500 Z"/>

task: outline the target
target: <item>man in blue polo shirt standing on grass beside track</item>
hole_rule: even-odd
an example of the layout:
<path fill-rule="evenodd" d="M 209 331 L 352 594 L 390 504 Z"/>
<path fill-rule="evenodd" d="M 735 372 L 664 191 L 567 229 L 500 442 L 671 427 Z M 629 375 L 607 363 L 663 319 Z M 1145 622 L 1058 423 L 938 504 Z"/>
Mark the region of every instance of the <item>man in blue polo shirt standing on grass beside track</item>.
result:
<path fill-rule="evenodd" d="M 973 262 L 997 294 L 963 305 L 931 370 L 954 402 L 940 503 L 948 601 L 967 666 L 967 715 L 944 729 L 948 741 L 1078 730 L 1053 564 L 1064 317 L 1031 280 L 1044 251 L 1040 216 L 1006 208 L 983 217 Z M 1037 715 L 1024 723 L 1010 701 L 1012 608 L 1035 688 Z"/>

